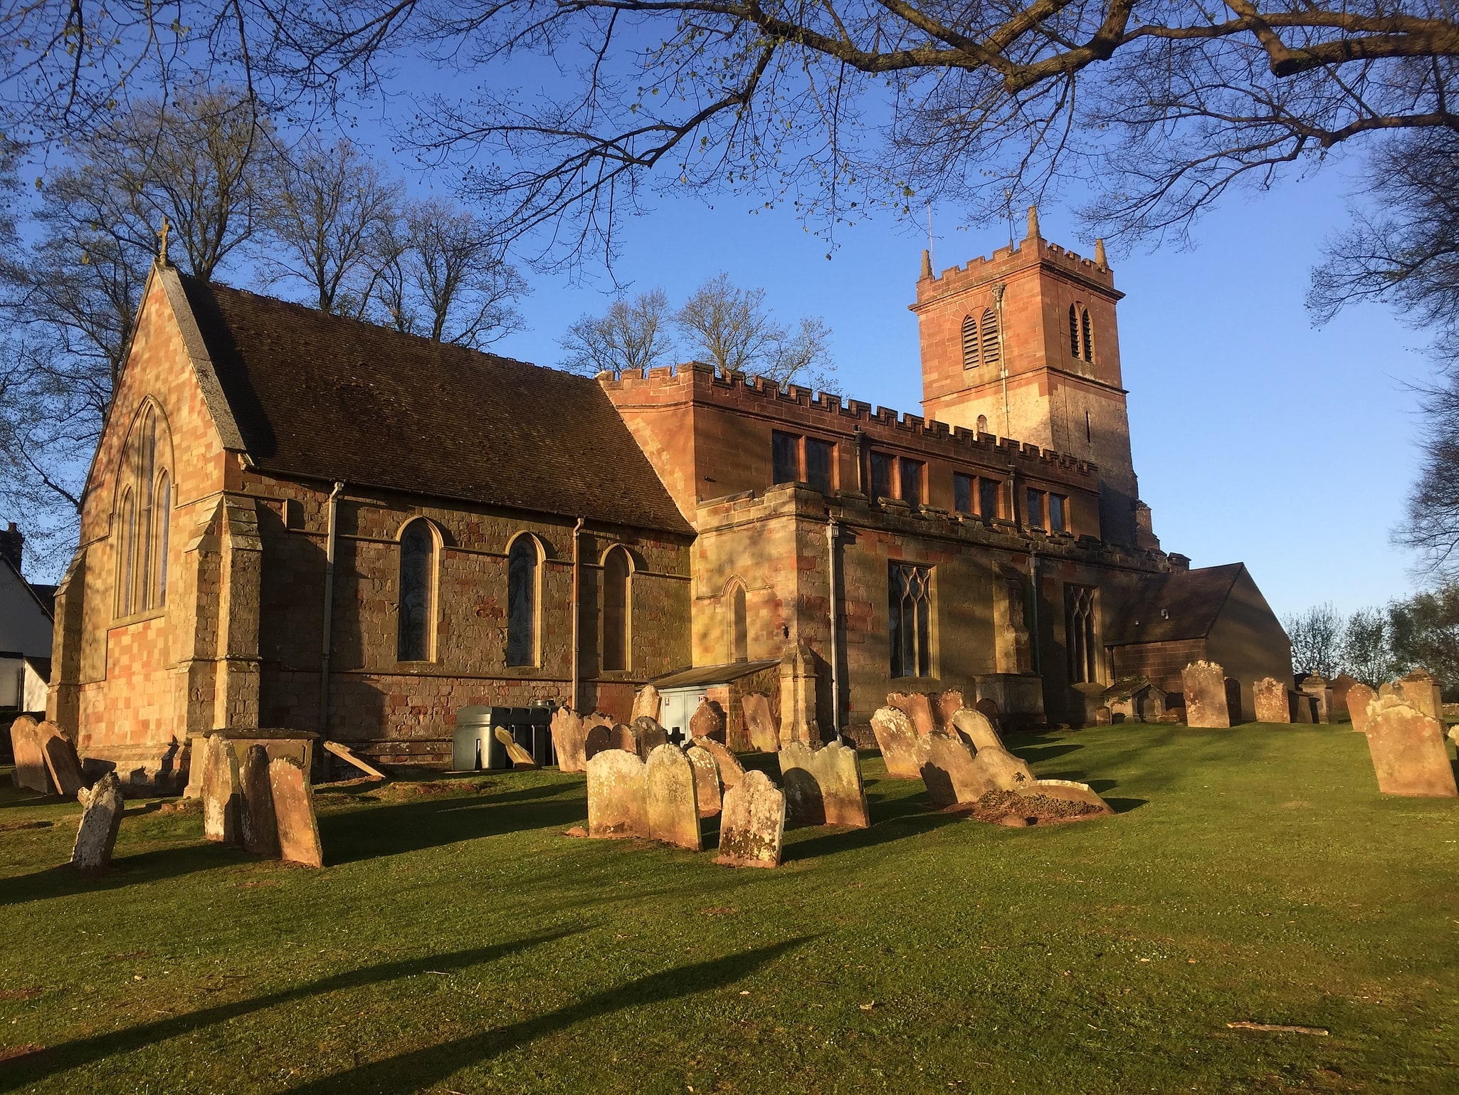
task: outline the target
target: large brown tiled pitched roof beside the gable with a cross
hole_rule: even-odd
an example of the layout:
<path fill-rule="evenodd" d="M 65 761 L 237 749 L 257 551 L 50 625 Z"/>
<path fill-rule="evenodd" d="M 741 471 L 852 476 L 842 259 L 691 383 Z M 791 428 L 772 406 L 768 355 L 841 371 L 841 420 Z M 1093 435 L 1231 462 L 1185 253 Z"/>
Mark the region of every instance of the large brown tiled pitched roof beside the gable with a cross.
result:
<path fill-rule="evenodd" d="M 693 531 L 595 380 L 178 277 L 263 472 Z"/>

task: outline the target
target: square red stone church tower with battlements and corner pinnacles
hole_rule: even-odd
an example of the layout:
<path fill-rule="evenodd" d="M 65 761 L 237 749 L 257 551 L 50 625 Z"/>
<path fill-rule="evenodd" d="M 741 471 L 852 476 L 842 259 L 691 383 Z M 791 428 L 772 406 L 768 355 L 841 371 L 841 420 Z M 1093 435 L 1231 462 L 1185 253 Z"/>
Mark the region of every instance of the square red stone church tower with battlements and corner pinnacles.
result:
<path fill-rule="evenodd" d="M 922 415 L 1088 460 L 1100 470 L 1100 527 L 1110 543 L 1157 548 L 1139 502 L 1119 372 L 1115 305 L 1104 261 L 1039 235 L 1037 210 L 1020 244 L 932 274 L 922 253 L 916 304 Z"/>

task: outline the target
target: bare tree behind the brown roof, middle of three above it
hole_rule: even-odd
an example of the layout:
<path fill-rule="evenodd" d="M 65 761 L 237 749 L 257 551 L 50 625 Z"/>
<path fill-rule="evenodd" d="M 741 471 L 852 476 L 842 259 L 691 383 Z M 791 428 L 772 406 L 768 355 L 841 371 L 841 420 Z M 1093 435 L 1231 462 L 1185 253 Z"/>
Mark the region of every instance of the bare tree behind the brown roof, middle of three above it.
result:
<path fill-rule="evenodd" d="M 303 282 L 325 312 L 360 317 L 382 266 L 378 242 L 404 190 L 349 139 L 314 133 L 279 158 L 258 257 L 271 283 Z"/>

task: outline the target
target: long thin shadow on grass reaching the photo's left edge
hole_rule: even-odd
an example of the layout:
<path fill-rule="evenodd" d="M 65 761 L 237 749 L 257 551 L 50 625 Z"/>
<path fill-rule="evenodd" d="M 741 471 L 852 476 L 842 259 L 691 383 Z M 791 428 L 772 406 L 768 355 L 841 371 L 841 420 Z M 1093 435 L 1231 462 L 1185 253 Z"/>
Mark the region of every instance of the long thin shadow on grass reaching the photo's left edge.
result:
<path fill-rule="evenodd" d="M 245 1015 L 252 1015 L 254 1012 L 261 1012 L 267 1007 L 276 1007 L 277 1004 L 305 1000 L 325 993 L 336 993 L 343 988 L 359 988 L 362 986 L 395 981 L 401 977 L 417 977 L 430 969 L 444 972 L 465 969 L 480 965 L 481 962 L 493 962 L 498 958 L 516 953 L 518 950 L 525 950 L 541 943 L 550 943 L 585 930 L 585 927 L 576 927 L 572 930 L 563 929 L 559 931 L 544 931 L 541 934 L 516 939 L 509 943 L 495 943 L 492 946 L 474 948 L 471 950 L 457 950 L 449 955 L 427 955 L 426 958 L 410 958 L 401 962 L 368 965 L 343 974 L 324 977 L 318 981 L 309 981 L 308 984 L 298 986 L 296 988 L 286 988 L 280 993 L 268 993 L 267 996 L 257 996 L 251 1000 L 219 1004 L 217 1007 L 204 1007 L 200 1012 L 188 1012 L 187 1015 L 143 1023 L 142 1026 L 128 1026 L 124 1031 L 111 1031 L 108 1034 L 98 1034 L 73 1042 L 63 1042 L 61 1045 L 51 1045 L 45 1050 L 26 1054 L 25 1057 L 18 1057 L 7 1066 L 0 1067 L 0 1091 L 15 1091 L 16 1088 L 34 1083 L 57 1072 L 66 1072 L 82 1064 L 105 1060 L 107 1057 L 118 1053 L 131 1053 L 133 1050 L 140 1050 L 153 1042 L 193 1034 L 194 1031 L 201 1031 L 207 1026 L 214 1026 Z"/>

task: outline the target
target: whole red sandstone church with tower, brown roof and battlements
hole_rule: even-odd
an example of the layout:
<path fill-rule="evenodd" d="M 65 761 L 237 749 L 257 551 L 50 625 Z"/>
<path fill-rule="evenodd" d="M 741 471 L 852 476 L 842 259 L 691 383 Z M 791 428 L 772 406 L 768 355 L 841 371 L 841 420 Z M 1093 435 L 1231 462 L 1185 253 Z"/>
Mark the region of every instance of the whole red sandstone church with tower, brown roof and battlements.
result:
<path fill-rule="evenodd" d="M 788 650 L 823 731 L 940 688 L 1081 724 L 1115 675 L 1179 692 L 1192 650 L 1240 666 L 1250 717 L 1287 637 L 1245 568 L 1160 549 L 1119 299 L 1033 218 L 966 267 L 924 258 L 916 416 L 693 364 L 575 377 L 158 263 L 57 590 L 50 717 L 134 781 L 219 727 L 445 764 L 468 705 L 626 717 L 645 682 Z"/>

